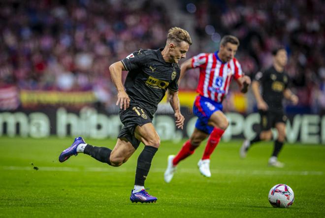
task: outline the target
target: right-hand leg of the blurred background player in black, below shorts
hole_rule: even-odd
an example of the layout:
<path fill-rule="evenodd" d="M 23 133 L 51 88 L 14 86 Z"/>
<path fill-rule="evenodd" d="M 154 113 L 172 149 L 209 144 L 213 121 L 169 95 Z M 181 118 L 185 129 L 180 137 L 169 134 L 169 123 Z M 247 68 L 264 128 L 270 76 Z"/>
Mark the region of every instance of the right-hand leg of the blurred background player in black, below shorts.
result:
<path fill-rule="evenodd" d="M 272 156 L 270 157 L 268 163 L 270 166 L 284 167 L 284 164 L 278 161 L 278 155 L 283 147 L 283 143 L 286 137 L 286 125 L 283 122 L 275 124 L 275 128 L 278 131 L 278 138 L 274 142 L 274 149 Z"/>

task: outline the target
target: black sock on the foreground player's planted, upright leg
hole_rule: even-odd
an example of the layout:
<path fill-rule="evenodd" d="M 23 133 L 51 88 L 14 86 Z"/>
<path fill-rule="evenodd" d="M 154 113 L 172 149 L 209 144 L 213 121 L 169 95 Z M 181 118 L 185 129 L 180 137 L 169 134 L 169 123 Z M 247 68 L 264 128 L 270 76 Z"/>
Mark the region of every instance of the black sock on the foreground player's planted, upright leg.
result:
<path fill-rule="evenodd" d="M 134 185 L 144 186 L 144 181 L 146 180 L 150 170 L 152 158 L 155 156 L 157 151 L 158 148 L 148 145 L 144 146 L 143 151 L 138 157 Z"/>

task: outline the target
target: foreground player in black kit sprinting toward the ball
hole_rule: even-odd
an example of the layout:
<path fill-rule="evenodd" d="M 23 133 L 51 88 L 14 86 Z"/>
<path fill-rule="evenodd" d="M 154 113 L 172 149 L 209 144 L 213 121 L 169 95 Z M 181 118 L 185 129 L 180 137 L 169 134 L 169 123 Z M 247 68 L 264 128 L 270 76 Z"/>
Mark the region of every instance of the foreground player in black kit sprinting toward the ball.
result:
<path fill-rule="evenodd" d="M 78 137 L 61 153 L 59 161 L 64 162 L 72 155 L 84 153 L 111 166 L 121 166 L 142 142 L 144 149 L 137 160 L 134 189 L 131 190 L 130 200 L 141 203 L 156 202 L 157 198 L 149 195 L 144 187 L 152 159 L 160 146 L 160 137 L 152 120 L 158 103 L 168 90 L 176 126 L 183 128 L 184 117 L 180 112 L 178 98 L 180 77 L 178 62 L 186 57 L 191 44 L 189 33 L 174 27 L 168 31 L 164 48 L 140 49 L 110 65 L 111 77 L 118 91 L 116 105 L 120 105 L 120 119 L 124 125 L 114 149 L 92 146 L 82 137 Z M 129 71 L 124 86 L 122 70 Z"/>

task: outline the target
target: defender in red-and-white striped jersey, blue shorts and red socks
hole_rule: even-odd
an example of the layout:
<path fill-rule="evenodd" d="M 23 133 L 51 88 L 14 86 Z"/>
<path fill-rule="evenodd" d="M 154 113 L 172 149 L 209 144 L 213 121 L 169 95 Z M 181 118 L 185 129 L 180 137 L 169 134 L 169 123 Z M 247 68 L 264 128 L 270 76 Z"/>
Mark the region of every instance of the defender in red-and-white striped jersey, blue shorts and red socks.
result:
<path fill-rule="evenodd" d="M 228 127 L 227 118 L 222 112 L 222 101 L 228 93 L 229 84 L 232 78 L 235 79 L 243 93 L 251 84 L 250 78 L 244 75 L 240 63 L 234 58 L 238 46 L 238 38 L 226 35 L 220 42 L 219 51 L 198 54 L 181 65 L 180 79 L 188 69 L 199 67 L 200 70 L 196 89 L 199 95 L 193 106 L 193 113 L 198 119 L 194 132 L 181 151 L 176 156 L 168 156 L 165 182 L 171 181 L 179 161 L 192 155 L 209 135 L 204 154 L 197 165 L 203 176 L 211 177 L 210 156 Z"/>

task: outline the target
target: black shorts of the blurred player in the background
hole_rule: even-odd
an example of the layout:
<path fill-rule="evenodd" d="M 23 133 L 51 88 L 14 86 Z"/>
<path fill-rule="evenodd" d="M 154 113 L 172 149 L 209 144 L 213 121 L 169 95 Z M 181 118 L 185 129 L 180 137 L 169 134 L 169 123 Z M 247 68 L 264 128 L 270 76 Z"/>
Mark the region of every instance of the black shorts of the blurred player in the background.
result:
<path fill-rule="evenodd" d="M 270 130 L 275 127 L 276 123 L 286 123 L 287 116 L 282 110 L 279 111 L 263 111 L 259 110 L 260 113 L 260 130 Z"/>

